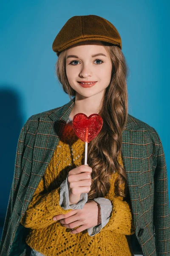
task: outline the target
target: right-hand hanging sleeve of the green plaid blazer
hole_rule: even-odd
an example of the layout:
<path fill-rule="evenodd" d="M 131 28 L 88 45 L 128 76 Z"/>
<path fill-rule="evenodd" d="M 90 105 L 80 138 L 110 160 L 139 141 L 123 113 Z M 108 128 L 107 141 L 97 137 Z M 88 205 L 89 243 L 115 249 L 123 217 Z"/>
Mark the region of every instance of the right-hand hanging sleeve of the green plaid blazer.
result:
<path fill-rule="evenodd" d="M 157 134 L 157 132 L 156 132 Z M 153 224 L 155 227 L 156 253 L 170 255 L 170 206 L 168 198 L 167 165 L 159 135 L 159 150 L 154 174 Z"/>

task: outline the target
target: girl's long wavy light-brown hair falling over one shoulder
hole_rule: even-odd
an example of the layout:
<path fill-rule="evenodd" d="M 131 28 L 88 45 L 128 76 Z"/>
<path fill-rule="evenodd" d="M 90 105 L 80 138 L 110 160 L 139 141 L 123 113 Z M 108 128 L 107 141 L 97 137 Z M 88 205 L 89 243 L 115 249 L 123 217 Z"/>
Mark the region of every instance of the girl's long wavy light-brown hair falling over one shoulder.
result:
<path fill-rule="evenodd" d="M 105 89 L 99 115 L 102 116 L 103 126 L 98 136 L 88 143 L 88 165 L 93 172 L 92 184 L 88 193 L 88 201 L 105 197 L 110 189 L 109 177 L 114 171 L 119 175 L 115 180 L 115 195 L 125 198 L 128 193 L 127 175 L 117 157 L 122 148 L 122 131 L 127 121 L 127 76 L 128 66 L 125 57 L 118 46 L 100 41 L 112 61 L 111 81 Z M 76 91 L 68 83 L 65 70 L 66 50 L 59 53 L 55 65 L 58 81 L 70 99 Z M 127 72 L 128 71 L 128 72 Z M 124 189 L 122 189 L 122 184 Z"/>

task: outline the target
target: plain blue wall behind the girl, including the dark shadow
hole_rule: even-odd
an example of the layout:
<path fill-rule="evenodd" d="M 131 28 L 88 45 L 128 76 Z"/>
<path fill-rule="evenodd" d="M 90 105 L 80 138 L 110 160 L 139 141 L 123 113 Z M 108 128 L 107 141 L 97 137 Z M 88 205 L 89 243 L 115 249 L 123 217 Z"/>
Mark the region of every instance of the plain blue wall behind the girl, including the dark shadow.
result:
<path fill-rule="evenodd" d="M 55 75 L 57 55 L 52 43 L 72 16 L 98 15 L 118 29 L 122 52 L 130 68 L 128 112 L 156 129 L 167 169 L 170 169 L 169 7 L 166 0 L 1 1 L 1 227 L 21 128 L 31 115 L 57 108 L 70 100 Z M 170 196 L 169 173 L 168 179 Z"/>

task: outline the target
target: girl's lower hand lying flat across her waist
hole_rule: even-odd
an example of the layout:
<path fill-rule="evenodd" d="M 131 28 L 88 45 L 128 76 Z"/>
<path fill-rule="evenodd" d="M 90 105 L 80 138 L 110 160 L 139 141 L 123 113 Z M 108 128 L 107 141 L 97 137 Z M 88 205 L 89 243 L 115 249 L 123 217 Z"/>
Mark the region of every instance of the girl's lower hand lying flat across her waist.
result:
<path fill-rule="evenodd" d="M 83 209 L 71 210 L 66 214 L 54 216 L 53 220 L 54 218 L 56 218 L 56 221 L 60 221 L 64 227 L 70 229 L 77 227 L 77 229 L 71 230 L 71 234 L 80 233 L 102 223 L 100 206 L 93 200 L 86 203 Z"/>

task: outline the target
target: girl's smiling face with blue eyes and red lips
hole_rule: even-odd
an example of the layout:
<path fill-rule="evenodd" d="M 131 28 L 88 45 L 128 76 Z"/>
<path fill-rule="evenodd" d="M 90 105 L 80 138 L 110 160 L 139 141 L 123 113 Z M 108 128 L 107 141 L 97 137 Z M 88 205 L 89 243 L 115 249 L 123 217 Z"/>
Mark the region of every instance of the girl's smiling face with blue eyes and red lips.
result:
<path fill-rule="evenodd" d="M 74 56 L 70 56 L 74 55 Z M 97 55 L 97 56 L 93 56 Z M 111 81 L 112 63 L 108 52 L 99 41 L 84 41 L 66 50 L 66 75 L 79 99 L 105 93 Z M 96 83 L 83 87 L 81 81 Z"/>

